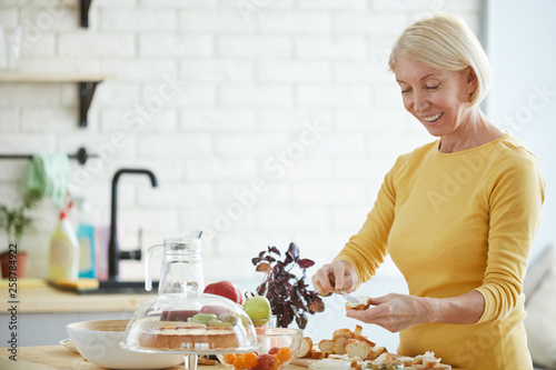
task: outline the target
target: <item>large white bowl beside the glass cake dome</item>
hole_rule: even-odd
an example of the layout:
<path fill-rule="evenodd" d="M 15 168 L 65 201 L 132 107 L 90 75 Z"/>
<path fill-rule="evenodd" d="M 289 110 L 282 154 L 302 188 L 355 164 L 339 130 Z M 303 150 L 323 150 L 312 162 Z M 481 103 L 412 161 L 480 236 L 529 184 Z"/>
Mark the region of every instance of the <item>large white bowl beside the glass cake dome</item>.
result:
<path fill-rule="evenodd" d="M 140 353 L 120 348 L 129 320 L 73 322 L 66 327 L 79 353 L 108 369 L 166 369 L 183 362 L 182 354 Z"/>

